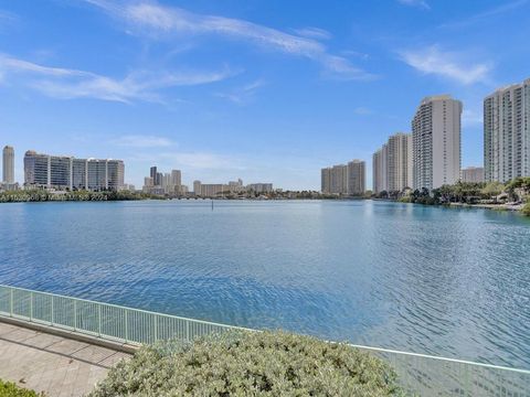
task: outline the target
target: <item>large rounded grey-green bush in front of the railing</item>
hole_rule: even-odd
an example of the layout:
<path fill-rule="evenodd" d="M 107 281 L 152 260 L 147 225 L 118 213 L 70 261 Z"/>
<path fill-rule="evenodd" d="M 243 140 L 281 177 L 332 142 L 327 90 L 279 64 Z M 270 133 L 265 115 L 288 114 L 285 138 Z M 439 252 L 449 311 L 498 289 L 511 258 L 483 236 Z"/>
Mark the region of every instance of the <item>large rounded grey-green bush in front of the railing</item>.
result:
<path fill-rule="evenodd" d="M 343 344 L 283 332 L 227 333 L 139 350 L 91 394 L 104 396 L 398 396 L 395 374 Z"/>

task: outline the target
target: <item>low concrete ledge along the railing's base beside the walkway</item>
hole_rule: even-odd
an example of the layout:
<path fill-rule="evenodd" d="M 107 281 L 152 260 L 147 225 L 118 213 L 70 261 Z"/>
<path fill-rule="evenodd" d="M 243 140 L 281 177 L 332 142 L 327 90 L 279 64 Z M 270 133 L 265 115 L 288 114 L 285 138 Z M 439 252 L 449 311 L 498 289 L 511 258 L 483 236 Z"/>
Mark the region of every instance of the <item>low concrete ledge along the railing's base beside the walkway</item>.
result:
<path fill-rule="evenodd" d="M 107 347 L 107 348 L 112 348 L 112 350 L 128 353 L 128 354 L 135 354 L 135 352 L 139 348 L 138 345 L 115 342 L 115 341 L 106 340 L 98 336 L 87 335 L 81 332 L 63 330 L 56 326 L 51 326 L 51 325 L 25 321 L 25 320 L 15 319 L 15 318 L 8 318 L 8 316 L 0 315 L 0 322 L 47 333 L 51 335 L 57 335 L 57 336 L 71 339 L 78 342 L 85 342 L 88 344 Z"/>

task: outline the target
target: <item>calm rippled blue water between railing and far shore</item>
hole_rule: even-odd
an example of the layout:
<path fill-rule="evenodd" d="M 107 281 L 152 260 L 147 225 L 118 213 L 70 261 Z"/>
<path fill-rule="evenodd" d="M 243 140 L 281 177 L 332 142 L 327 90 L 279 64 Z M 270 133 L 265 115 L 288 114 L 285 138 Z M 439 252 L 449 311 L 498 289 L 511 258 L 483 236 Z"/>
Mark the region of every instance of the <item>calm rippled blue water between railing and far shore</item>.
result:
<path fill-rule="evenodd" d="M 0 283 L 530 367 L 530 219 L 374 202 L 0 205 Z"/>

